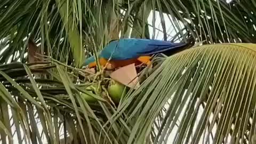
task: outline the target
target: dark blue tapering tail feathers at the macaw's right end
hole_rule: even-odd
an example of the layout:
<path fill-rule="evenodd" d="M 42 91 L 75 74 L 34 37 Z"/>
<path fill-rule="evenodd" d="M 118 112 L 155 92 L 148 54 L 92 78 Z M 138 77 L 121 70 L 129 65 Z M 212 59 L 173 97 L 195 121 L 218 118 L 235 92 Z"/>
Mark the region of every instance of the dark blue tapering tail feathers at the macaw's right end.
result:
<path fill-rule="evenodd" d="M 157 47 L 157 49 L 145 51 L 141 54 L 143 55 L 153 55 L 158 53 L 163 53 L 167 56 L 173 55 L 175 53 L 181 52 L 183 50 L 189 49 L 195 44 L 194 38 L 187 39 L 187 43 L 170 43 L 163 41 L 153 41 L 150 46 Z"/>

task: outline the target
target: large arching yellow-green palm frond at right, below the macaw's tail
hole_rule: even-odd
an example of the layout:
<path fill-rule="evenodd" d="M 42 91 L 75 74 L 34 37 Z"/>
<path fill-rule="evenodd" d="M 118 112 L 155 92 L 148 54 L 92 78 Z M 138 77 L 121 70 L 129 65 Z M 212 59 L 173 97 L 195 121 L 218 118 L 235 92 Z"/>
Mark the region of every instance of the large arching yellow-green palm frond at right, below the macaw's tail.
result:
<path fill-rule="evenodd" d="M 133 125 L 127 143 L 254 143 L 255 54 L 215 44 L 166 58 L 113 115 Z"/>

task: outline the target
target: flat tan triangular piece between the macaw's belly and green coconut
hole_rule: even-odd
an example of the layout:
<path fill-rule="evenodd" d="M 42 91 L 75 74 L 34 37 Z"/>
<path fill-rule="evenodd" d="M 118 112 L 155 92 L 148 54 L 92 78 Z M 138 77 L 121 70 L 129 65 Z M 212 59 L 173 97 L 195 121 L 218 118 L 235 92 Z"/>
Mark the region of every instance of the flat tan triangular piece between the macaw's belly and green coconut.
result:
<path fill-rule="evenodd" d="M 133 89 L 138 89 L 140 86 L 135 63 L 115 70 L 110 74 L 110 77 L 115 81 Z"/>

